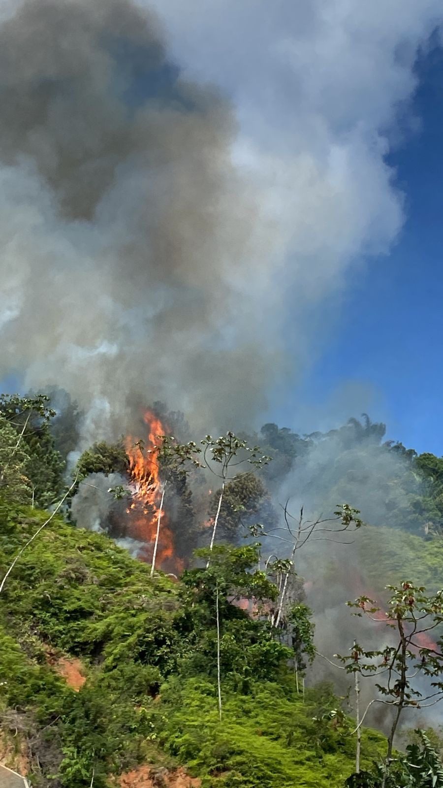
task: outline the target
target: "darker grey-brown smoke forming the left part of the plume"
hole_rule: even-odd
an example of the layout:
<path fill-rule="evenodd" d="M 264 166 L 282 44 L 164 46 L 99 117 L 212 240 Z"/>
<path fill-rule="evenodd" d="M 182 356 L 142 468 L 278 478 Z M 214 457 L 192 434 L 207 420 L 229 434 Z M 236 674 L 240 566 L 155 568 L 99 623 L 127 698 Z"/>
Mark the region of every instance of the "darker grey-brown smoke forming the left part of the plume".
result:
<path fill-rule="evenodd" d="M 233 113 L 181 80 L 158 20 L 130 0 L 24 2 L 0 28 L 0 98 L 2 373 L 64 385 L 89 438 L 127 429 L 128 396 L 202 424 L 261 406 L 245 277 L 264 227 Z"/>

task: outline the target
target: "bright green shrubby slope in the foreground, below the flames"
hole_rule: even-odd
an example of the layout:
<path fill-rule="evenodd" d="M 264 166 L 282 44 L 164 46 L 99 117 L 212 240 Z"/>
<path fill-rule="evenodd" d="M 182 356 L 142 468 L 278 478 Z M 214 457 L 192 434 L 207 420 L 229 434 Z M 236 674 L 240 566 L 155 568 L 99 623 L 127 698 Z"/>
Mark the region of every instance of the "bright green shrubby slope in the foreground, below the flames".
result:
<path fill-rule="evenodd" d="M 46 513 L 0 509 L 0 567 Z M 215 622 L 192 582 L 150 578 L 109 537 L 53 519 L 24 552 L 0 598 L 3 729 L 24 747 L 33 782 L 105 785 L 137 764 L 186 765 L 203 786 L 341 786 L 355 741 L 327 686 L 304 700 L 284 647 L 229 605 L 223 624 L 223 719 Z M 226 605 L 226 611 L 228 606 Z M 80 658 L 75 692 L 54 656 Z M 363 762 L 382 753 L 365 730 Z"/>

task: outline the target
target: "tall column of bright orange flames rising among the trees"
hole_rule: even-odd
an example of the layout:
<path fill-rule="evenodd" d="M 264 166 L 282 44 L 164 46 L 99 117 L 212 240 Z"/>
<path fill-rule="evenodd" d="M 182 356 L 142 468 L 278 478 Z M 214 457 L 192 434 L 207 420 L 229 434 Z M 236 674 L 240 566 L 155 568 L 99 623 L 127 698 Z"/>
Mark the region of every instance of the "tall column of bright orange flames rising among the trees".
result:
<path fill-rule="evenodd" d="M 132 487 L 132 503 L 126 511 L 129 515 L 128 530 L 131 537 L 146 544 L 139 558 L 151 563 L 163 490 L 155 448 L 161 445 L 161 436 L 167 433 L 167 428 L 152 411 L 146 411 L 143 420 L 147 425 L 147 438 L 144 443 L 137 442 L 132 436 L 126 439 Z M 173 534 L 168 526 L 166 511 L 163 509 L 156 566 L 165 571 L 177 571 L 181 569 L 179 564 L 181 562 L 174 558 Z"/>

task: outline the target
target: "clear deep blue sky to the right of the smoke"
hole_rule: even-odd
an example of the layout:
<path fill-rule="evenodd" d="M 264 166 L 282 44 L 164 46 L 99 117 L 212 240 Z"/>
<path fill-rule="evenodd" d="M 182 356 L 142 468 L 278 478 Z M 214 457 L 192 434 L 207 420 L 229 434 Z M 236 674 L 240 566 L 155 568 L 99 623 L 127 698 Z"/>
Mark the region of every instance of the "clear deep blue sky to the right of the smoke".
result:
<path fill-rule="evenodd" d="M 301 396 L 318 412 L 341 400 L 344 416 L 347 396 L 340 392 L 348 392 L 349 407 L 368 407 L 372 418 L 388 423 L 389 437 L 441 455 L 443 50 L 420 58 L 416 72 L 419 87 L 408 114 L 419 118 L 419 129 L 406 132 L 387 159 L 405 192 L 404 229 L 389 255 L 368 261 L 354 277 L 343 318 Z M 299 428 L 289 405 L 281 418 Z"/>

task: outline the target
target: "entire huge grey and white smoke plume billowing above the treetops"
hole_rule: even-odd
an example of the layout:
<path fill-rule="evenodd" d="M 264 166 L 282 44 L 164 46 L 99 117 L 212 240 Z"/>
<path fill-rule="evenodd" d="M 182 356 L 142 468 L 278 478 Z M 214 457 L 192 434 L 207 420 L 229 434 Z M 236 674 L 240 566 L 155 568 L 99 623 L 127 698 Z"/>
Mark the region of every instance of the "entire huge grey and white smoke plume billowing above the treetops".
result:
<path fill-rule="evenodd" d="M 389 129 L 437 4 L 346 5 L 2 9 L 0 379 L 68 390 L 80 448 L 134 402 L 248 428 L 395 239 Z"/>

